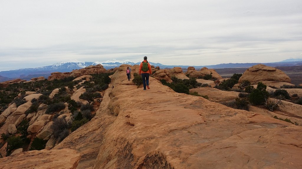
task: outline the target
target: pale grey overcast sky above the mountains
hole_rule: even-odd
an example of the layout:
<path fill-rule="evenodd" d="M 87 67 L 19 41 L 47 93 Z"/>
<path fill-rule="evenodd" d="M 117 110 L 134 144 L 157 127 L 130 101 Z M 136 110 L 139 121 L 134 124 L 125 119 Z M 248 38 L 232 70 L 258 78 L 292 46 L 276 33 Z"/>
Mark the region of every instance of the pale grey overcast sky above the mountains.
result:
<path fill-rule="evenodd" d="M 302 58 L 302 1 L 0 0 L 0 71 L 143 56 L 191 66 Z"/>

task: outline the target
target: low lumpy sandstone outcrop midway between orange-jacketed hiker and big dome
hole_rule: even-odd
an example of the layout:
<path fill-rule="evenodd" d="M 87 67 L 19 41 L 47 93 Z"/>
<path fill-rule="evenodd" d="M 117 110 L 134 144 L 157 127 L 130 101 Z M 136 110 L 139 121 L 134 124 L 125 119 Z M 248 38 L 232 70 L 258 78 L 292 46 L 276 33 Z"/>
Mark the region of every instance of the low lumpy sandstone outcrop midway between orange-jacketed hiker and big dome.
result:
<path fill-rule="evenodd" d="M 212 78 L 216 78 L 217 80 L 222 79 L 215 69 L 208 69 L 206 67 L 203 67 L 197 71 L 194 67 L 190 66 L 185 74 L 189 75 L 190 78 L 199 78 L 204 77 L 205 75 L 212 75 Z"/>

